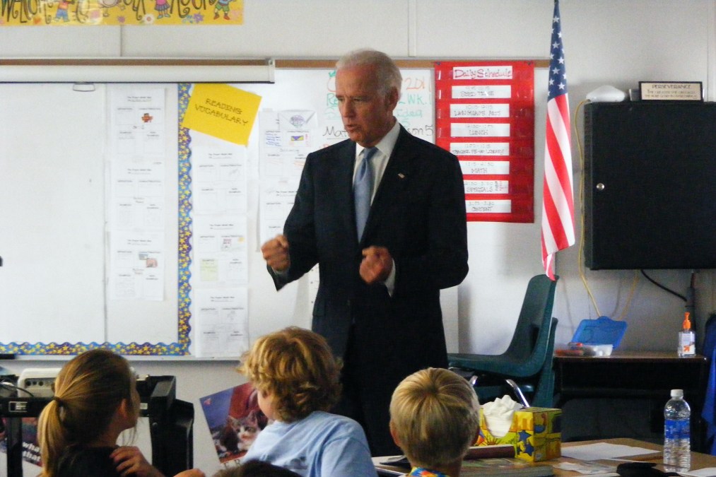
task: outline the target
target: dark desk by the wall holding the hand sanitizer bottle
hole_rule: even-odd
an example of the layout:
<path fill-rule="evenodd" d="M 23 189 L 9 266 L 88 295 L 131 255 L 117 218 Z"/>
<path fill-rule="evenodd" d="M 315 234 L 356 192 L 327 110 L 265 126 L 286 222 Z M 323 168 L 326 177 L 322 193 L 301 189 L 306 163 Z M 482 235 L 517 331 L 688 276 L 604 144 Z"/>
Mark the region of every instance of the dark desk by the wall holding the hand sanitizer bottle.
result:
<path fill-rule="evenodd" d="M 701 418 L 708 377 L 706 357 L 676 352 L 614 351 L 611 356 L 555 356 L 555 407 L 577 398 L 647 400 L 663 408 L 672 389 L 683 389 L 691 406 L 692 448 L 705 449 Z"/>

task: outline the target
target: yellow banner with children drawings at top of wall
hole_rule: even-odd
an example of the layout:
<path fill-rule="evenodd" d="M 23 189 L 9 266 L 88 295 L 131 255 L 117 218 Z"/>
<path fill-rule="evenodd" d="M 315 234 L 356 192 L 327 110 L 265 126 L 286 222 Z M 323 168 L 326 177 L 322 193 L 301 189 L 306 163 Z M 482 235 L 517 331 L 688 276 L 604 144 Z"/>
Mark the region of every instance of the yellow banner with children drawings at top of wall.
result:
<path fill-rule="evenodd" d="M 0 26 L 241 25 L 243 0 L 2 0 Z"/>

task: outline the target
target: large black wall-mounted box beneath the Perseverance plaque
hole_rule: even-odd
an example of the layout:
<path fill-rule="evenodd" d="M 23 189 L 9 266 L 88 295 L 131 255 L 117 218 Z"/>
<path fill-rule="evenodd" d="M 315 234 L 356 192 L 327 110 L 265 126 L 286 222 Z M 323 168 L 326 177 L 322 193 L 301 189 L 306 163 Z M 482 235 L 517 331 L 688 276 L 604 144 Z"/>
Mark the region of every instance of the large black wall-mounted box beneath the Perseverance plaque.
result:
<path fill-rule="evenodd" d="M 716 268 L 716 103 L 584 107 L 584 261 Z"/>

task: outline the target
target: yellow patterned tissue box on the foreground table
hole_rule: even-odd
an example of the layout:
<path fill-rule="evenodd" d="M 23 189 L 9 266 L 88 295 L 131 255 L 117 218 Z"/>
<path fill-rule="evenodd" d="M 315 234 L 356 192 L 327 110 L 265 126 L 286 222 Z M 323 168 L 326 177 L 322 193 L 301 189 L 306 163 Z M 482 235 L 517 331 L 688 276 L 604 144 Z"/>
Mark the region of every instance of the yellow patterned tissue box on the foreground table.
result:
<path fill-rule="evenodd" d="M 512 444 L 515 456 L 528 462 L 548 461 L 561 456 L 562 410 L 524 408 L 512 416 L 507 434 L 496 438 L 490 434 L 480 409 L 480 436 L 475 445 Z"/>

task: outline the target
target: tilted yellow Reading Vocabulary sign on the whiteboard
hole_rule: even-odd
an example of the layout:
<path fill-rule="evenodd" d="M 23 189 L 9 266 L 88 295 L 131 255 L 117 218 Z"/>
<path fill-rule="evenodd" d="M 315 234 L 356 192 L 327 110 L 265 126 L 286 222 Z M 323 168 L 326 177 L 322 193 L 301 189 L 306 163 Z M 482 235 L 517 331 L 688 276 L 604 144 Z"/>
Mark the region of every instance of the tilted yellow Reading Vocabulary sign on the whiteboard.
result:
<path fill-rule="evenodd" d="M 183 127 L 246 145 L 261 96 L 229 85 L 194 85 Z"/>

